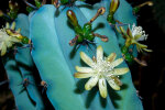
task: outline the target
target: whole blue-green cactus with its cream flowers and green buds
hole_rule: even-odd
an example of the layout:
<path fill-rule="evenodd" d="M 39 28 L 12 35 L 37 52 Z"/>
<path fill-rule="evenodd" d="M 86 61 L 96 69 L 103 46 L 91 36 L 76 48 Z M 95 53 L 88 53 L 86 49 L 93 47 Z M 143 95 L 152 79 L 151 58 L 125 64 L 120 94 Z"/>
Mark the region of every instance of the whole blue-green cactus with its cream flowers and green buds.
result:
<path fill-rule="evenodd" d="M 136 41 L 146 36 L 144 32 L 140 28 L 138 30 L 136 26 L 132 26 L 134 29 L 129 28 L 128 33 L 123 29 L 124 25 L 118 22 L 125 15 L 125 11 L 133 14 L 131 6 L 124 0 L 103 0 L 95 6 L 89 6 L 81 0 L 52 0 L 52 4 L 46 4 L 46 0 L 34 1 L 35 6 L 24 0 L 28 11 L 33 10 L 29 18 L 19 14 L 15 19 L 16 29 L 21 28 L 21 32 L 8 24 L 4 31 L 1 31 L 3 35 L 0 34 L 2 37 L 6 34 L 18 41 L 3 40 L 2 43 L 8 48 L 13 47 L 13 44 L 21 44 L 21 47 L 16 45 L 18 53 L 12 54 L 12 58 L 8 59 L 10 53 L 6 55 L 7 61 L 4 58 L 9 79 L 14 78 L 13 73 L 21 73 L 21 76 L 18 76 L 19 81 L 14 79 L 13 81 L 16 81 L 16 88 L 24 86 L 26 89 L 23 96 L 28 105 L 23 106 L 19 103 L 19 99 L 23 99 L 16 96 L 20 88 L 12 89 L 18 98 L 18 108 L 44 110 L 46 106 L 41 94 L 45 91 L 56 110 L 143 110 L 118 41 L 118 35 L 121 34 L 128 37 L 127 48 L 130 45 L 140 45 L 139 51 L 146 51 L 146 46 Z M 102 6 L 103 2 L 106 6 Z M 129 7 L 120 10 L 123 6 Z M 58 15 L 56 15 L 57 11 Z M 130 21 L 132 16 L 128 15 L 124 20 Z M 88 50 L 90 45 L 92 50 Z M 1 48 L 1 53 L 4 52 L 7 52 L 4 47 Z M 16 70 L 11 70 L 12 65 Z M 35 66 L 38 70 L 37 78 L 41 78 L 40 84 L 35 84 L 37 78 L 34 76 L 37 73 L 31 69 Z M 89 78 L 89 80 L 77 78 Z M 107 82 L 112 89 L 107 86 Z M 13 86 L 11 81 L 10 84 Z M 42 90 L 37 89 L 36 85 L 42 87 Z M 120 99 L 113 96 L 119 96 Z M 36 105 L 32 105 L 31 99 Z M 29 107 L 25 108 L 26 106 Z"/>

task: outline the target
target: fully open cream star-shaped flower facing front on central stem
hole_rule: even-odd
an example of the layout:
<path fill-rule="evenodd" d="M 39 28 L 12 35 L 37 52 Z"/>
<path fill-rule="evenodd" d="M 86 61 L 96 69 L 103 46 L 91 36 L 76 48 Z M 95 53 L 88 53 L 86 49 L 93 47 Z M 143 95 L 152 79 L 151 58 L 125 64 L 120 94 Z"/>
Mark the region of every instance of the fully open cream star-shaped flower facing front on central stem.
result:
<path fill-rule="evenodd" d="M 90 90 L 97 84 L 102 98 L 107 97 L 107 82 L 114 89 L 120 90 L 122 82 L 118 78 L 119 75 L 123 75 L 129 72 L 128 67 L 116 68 L 123 62 L 123 58 L 116 59 L 116 53 L 111 53 L 108 57 L 103 58 L 103 50 L 101 46 L 97 47 L 96 59 L 91 59 L 84 52 L 80 52 L 81 59 L 90 67 L 76 66 L 78 73 L 75 74 L 76 78 L 88 78 L 90 79 L 85 85 L 86 90 Z M 116 61 L 114 61 L 116 59 Z"/>

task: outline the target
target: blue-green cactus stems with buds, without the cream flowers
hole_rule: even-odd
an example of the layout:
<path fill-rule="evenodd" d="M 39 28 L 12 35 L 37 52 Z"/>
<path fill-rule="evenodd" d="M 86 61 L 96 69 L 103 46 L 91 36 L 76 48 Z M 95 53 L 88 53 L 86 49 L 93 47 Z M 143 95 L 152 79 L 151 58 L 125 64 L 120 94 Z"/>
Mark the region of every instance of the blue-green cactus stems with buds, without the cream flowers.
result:
<path fill-rule="evenodd" d="M 113 14 L 113 19 L 129 24 L 133 22 L 136 23 L 136 20 L 132 14 L 131 6 L 129 6 L 125 0 L 120 0 L 120 4 L 117 12 Z M 12 85 L 11 88 L 19 88 L 19 86 L 16 86 L 18 84 L 14 86 L 12 81 L 22 81 L 23 78 L 28 78 L 29 82 L 35 84 L 36 78 L 33 76 L 35 76 L 36 73 L 31 70 L 35 64 L 38 75 L 43 80 L 42 82 L 44 82 L 43 85 L 47 98 L 56 110 L 143 110 L 142 102 L 133 86 L 130 72 L 120 77 L 120 80 L 123 84 L 122 86 L 119 85 L 121 86 L 121 89 L 119 90 L 118 88 L 116 91 L 108 87 L 108 95 L 103 95 L 100 87 L 94 87 L 91 90 L 86 91 L 85 84 L 87 80 L 74 77 L 76 66 L 87 66 L 82 62 L 86 59 L 80 59 L 81 56 L 79 53 L 81 52 L 92 57 L 94 62 L 97 62 L 94 56 L 96 56 L 96 53 L 99 53 L 99 51 L 96 51 L 96 47 L 101 45 L 105 56 L 116 53 L 117 59 L 122 57 L 119 44 L 124 45 L 124 40 L 120 38 L 121 35 L 108 23 L 108 12 L 106 12 L 105 16 L 100 15 L 97 19 L 92 19 L 100 7 L 105 7 L 108 11 L 109 6 L 109 0 L 103 0 L 95 6 L 76 1 L 75 6 L 70 8 L 61 6 L 56 9 L 53 4 L 43 4 L 42 7 L 38 7 L 35 12 L 30 13 L 29 19 L 24 14 L 19 14 L 15 20 L 16 29 L 22 29 L 21 34 L 32 40 L 33 46 L 31 54 L 31 48 L 28 47 L 18 50 L 15 56 L 12 56 L 10 61 L 8 61 L 8 58 L 11 53 L 3 56 L 3 63 L 9 79 L 13 79 L 14 77 L 18 77 L 19 79 L 10 80 L 10 84 Z M 75 12 L 74 18 L 67 16 L 68 10 Z M 55 14 L 56 11 L 59 11 L 58 15 Z M 77 22 L 75 21 L 76 19 Z M 84 25 L 90 26 L 90 30 L 84 31 L 86 29 Z M 77 35 L 81 35 L 81 38 L 85 38 L 87 42 L 84 44 L 84 40 L 77 41 L 74 38 L 75 36 L 77 37 Z M 107 38 L 109 41 L 102 42 L 103 40 L 101 41 L 95 35 L 99 36 L 101 40 L 102 37 L 106 37 L 106 41 Z M 88 36 L 91 36 L 92 38 Z M 73 40 L 76 43 L 74 46 L 70 46 L 69 41 Z M 23 46 L 24 45 L 29 44 L 23 44 Z M 98 48 L 100 48 L 100 46 L 98 46 Z M 134 53 L 136 53 L 136 50 L 134 50 Z M 13 70 L 10 68 L 9 66 L 11 65 L 16 69 Z M 123 74 L 128 72 L 125 62 L 119 65 L 119 67 L 127 68 L 125 72 L 122 72 Z M 30 68 L 30 70 L 28 68 Z M 13 76 L 13 74 L 15 74 L 15 76 Z M 31 75 L 26 76 L 26 74 Z M 77 74 L 75 74 L 75 76 Z M 120 82 L 119 78 L 114 78 L 114 84 Z M 112 85 L 111 87 L 116 88 Z M 12 91 L 14 94 L 18 92 L 18 90 L 20 90 L 20 88 L 16 90 L 13 89 Z M 99 90 L 101 95 L 99 94 Z M 41 97 L 36 84 L 28 85 L 26 90 L 23 91 L 23 94 L 20 94 L 19 96 L 16 96 L 16 94 L 14 95 L 16 106 L 21 110 L 44 109 L 44 100 Z M 24 96 L 26 105 L 19 103 L 19 100 L 23 100 L 20 99 L 21 96 Z M 30 99 L 32 99 L 36 106 L 32 105 Z M 19 105 L 24 106 L 23 109 Z"/>

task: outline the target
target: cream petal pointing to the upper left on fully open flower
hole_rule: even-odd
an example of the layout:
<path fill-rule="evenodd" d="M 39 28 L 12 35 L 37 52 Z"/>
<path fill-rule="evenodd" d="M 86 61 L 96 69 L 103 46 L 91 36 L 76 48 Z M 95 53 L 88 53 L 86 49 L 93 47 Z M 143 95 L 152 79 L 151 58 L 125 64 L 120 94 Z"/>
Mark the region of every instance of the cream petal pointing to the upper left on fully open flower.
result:
<path fill-rule="evenodd" d="M 86 64 L 88 64 L 89 66 L 95 65 L 94 61 L 92 61 L 87 54 L 85 54 L 84 52 L 80 52 L 80 58 L 81 58 Z"/>

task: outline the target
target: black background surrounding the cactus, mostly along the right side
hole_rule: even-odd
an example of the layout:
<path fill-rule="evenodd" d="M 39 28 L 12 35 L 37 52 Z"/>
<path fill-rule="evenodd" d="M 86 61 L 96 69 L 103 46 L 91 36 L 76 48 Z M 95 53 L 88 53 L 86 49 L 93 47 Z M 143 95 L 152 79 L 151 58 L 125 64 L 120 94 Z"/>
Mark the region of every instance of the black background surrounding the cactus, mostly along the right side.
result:
<path fill-rule="evenodd" d="M 20 12 L 25 11 L 25 4 L 22 0 Z M 33 1 L 33 0 L 29 0 Z M 51 0 L 47 0 L 51 1 Z M 96 3 L 100 0 L 87 0 L 88 3 Z M 141 4 L 147 0 L 128 0 L 132 7 Z M 165 0 L 152 0 L 153 7 L 143 7 L 136 14 L 138 24 L 141 25 L 148 34 L 145 44 L 152 48 L 152 53 L 140 55 L 140 59 L 147 62 L 147 67 L 141 67 L 133 64 L 130 68 L 132 72 L 133 82 L 142 98 L 144 110 L 165 110 Z M 0 10 L 7 12 L 8 0 L 0 0 Z M 4 20 L 0 18 L 0 26 L 4 25 Z M 0 59 L 0 82 L 6 80 L 6 72 Z M 131 102 L 130 102 L 131 105 Z M 12 110 L 14 107 L 13 96 L 8 87 L 8 84 L 0 86 L 0 110 Z"/>

